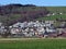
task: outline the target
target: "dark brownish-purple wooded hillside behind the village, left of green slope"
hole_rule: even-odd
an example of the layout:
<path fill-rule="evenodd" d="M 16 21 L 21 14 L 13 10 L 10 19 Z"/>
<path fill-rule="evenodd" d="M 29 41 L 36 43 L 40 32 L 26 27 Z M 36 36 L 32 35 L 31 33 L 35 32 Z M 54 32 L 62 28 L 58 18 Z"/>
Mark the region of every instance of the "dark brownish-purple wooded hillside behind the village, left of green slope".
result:
<path fill-rule="evenodd" d="M 18 21 L 30 21 L 48 13 L 45 7 L 36 7 L 33 4 L 8 4 L 0 7 L 0 22 L 4 24 L 13 24 Z"/>

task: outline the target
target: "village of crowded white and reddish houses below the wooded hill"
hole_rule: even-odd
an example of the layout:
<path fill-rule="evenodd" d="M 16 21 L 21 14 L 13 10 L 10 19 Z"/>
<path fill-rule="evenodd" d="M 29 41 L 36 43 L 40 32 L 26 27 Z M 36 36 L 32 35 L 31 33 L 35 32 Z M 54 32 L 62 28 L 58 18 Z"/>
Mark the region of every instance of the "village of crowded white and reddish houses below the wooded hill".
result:
<path fill-rule="evenodd" d="M 18 22 L 8 28 L 0 23 L 0 37 L 66 37 L 65 23 L 61 24 L 63 27 L 55 27 L 54 23 L 55 21 Z"/>

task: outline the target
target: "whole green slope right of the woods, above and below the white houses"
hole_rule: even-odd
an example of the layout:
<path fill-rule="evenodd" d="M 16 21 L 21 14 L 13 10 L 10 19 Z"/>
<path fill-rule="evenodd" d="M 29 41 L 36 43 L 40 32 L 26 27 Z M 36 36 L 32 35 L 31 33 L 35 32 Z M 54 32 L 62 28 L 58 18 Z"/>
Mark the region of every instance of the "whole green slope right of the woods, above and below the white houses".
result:
<path fill-rule="evenodd" d="M 48 17 L 41 17 L 37 20 L 56 20 L 56 19 L 64 19 L 66 20 L 66 7 L 46 7 L 46 9 L 51 12 L 51 13 L 64 13 L 63 15 L 51 15 Z"/>

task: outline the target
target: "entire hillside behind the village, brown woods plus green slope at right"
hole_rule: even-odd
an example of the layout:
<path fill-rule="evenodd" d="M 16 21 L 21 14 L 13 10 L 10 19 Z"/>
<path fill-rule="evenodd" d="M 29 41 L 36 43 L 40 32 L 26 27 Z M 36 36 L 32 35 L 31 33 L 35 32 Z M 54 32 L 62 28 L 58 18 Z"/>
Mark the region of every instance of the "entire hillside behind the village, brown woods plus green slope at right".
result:
<path fill-rule="evenodd" d="M 12 25 L 16 22 L 31 20 L 56 20 L 66 19 L 66 15 L 54 15 L 46 17 L 48 13 L 66 14 L 66 7 L 36 7 L 34 4 L 7 4 L 0 7 L 0 22 Z"/>

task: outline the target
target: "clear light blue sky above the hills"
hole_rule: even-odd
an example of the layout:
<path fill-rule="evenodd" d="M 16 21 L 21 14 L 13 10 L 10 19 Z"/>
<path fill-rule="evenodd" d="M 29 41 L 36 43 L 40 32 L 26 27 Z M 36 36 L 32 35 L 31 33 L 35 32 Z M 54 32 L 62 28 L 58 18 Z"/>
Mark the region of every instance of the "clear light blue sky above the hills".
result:
<path fill-rule="evenodd" d="M 10 3 L 35 4 L 40 7 L 66 7 L 66 0 L 0 0 L 0 5 Z"/>

